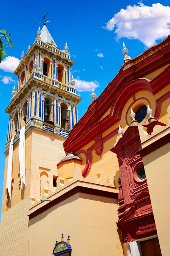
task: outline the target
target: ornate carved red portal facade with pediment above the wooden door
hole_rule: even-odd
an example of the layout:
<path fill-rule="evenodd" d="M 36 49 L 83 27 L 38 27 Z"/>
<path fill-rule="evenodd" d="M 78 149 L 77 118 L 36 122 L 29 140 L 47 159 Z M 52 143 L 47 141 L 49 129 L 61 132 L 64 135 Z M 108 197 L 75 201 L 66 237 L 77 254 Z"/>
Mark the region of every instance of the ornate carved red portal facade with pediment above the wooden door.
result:
<path fill-rule="evenodd" d="M 156 235 L 156 224 L 147 186 L 147 180 L 138 177 L 143 166 L 138 126 L 130 126 L 122 139 L 111 149 L 119 160 L 119 193 L 117 225 L 122 230 L 123 243 Z"/>

